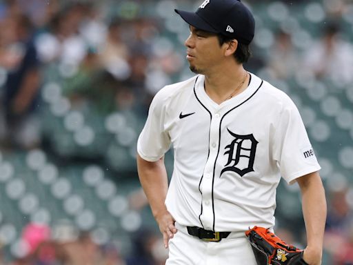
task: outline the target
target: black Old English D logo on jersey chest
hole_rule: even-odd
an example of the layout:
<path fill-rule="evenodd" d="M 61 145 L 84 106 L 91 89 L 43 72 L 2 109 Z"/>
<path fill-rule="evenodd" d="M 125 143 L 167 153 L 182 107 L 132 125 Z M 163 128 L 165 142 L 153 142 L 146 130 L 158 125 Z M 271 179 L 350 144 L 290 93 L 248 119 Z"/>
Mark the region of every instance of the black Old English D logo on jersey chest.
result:
<path fill-rule="evenodd" d="M 225 171 L 233 171 L 241 177 L 246 173 L 254 171 L 254 159 L 256 153 L 256 145 L 259 143 L 254 135 L 236 135 L 228 128 L 228 133 L 234 137 L 232 142 L 225 146 L 224 155 L 228 155 L 227 164 L 221 171 L 221 175 Z"/>

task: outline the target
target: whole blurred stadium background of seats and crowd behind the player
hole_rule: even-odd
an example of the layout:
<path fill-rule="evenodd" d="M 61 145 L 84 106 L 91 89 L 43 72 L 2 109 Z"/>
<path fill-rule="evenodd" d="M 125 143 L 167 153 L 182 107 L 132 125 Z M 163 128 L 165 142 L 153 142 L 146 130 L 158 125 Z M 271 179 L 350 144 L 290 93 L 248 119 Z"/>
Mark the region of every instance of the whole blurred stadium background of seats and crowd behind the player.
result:
<path fill-rule="evenodd" d="M 192 76 L 173 10 L 200 3 L 0 0 L 0 264 L 164 264 L 136 144 L 155 92 Z M 353 264 L 353 2 L 246 4 L 246 68 L 292 97 L 322 166 L 323 264 Z M 298 186 L 277 196 L 276 233 L 305 246 Z"/>

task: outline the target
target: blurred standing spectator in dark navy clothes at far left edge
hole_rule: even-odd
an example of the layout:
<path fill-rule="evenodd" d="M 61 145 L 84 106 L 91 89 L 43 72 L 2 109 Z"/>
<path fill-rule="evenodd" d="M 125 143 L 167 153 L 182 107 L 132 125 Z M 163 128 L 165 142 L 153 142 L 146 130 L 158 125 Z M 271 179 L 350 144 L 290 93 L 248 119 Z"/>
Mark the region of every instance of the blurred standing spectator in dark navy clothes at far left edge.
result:
<path fill-rule="evenodd" d="M 5 84 L 6 143 L 30 148 L 39 143 L 39 121 L 34 113 L 39 106 L 40 65 L 30 20 L 24 15 L 11 19 L 14 40 L 10 45 L 20 59 L 9 69 Z"/>

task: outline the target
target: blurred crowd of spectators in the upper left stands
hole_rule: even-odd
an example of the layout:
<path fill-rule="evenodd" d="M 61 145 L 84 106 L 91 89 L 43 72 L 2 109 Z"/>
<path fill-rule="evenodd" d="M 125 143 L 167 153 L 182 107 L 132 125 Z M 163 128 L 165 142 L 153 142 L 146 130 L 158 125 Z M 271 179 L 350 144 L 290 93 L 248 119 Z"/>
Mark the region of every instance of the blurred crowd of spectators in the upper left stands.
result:
<path fill-rule="evenodd" d="M 64 95 L 77 108 L 90 101 L 103 113 L 146 111 L 151 95 L 163 86 L 158 80 L 177 72 L 181 63 L 172 51 L 161 55 L 153 43 L 159 34 L 157 19 L 130 19 L 133 10 L 126 5 L 119 16 L 108 16 L 104 8 L 109 7 L 97 3 L 2 4 L 3 144 L 39 144 L 40 88 L 52 65 L 59 70 Z"/>

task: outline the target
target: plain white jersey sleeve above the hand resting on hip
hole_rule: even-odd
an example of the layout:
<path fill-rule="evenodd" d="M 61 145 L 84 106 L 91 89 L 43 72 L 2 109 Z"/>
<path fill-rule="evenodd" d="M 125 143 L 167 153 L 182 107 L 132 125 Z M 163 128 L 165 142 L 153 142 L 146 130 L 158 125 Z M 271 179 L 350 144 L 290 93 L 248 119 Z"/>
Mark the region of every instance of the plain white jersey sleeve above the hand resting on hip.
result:
<path fill-rule="evenodd" d="M 159 92 L 154 96 L 148 118 L 137 141 L 137 153 L 146 161 L 157 161 L 170 148 L 170 137 L 165 130 L 166 99 Z"/>

